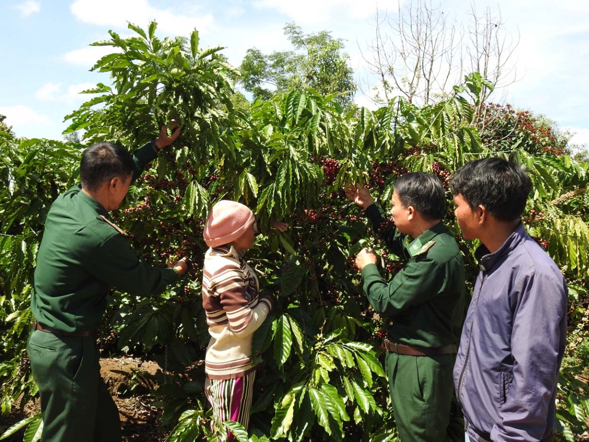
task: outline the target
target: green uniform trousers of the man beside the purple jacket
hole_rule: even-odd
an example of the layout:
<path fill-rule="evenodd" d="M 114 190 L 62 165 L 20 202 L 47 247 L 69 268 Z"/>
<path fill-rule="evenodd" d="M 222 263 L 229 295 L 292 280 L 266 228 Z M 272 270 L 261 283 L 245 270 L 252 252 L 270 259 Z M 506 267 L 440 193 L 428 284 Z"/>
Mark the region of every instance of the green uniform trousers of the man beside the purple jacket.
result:
<path fill-rule="evenodd" d="M 401 442 L 442 442 L 450 420 L 454 355 L 387 352 L 386 369 Z"/>

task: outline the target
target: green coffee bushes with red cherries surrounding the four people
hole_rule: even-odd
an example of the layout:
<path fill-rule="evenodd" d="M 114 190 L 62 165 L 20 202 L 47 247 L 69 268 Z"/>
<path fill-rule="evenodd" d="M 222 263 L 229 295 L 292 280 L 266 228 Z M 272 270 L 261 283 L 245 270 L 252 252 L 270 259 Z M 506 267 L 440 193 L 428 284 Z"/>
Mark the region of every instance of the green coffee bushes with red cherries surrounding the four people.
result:
<path fill-rule="evenodd" d="M 260 368 L 250 434 L 235 423 L 216 428 L 231 428 L 241 441 L 394 441 L 383 324 L 350 262 L 365 244 L 380 243 L 341 189 L 350 181 L 369 184 L 388 206 L 393 181 L 407 170 L 438 174 L 447 187 L 449 174 L 467 161 L 514 150 L 534 185 L 524 222 L 570 284 L 558 429 L 562 440 L 580 437 L 589 416 L 588 176 L 587 163 L 568 156 L 565 137 L 530 113 L 481 103 L 492 86 L 478 74 L 423 107 L 395 98 L 370 111 L 349 103 L 348 88 L 326 93 L 304 83 L 243 105 L 233 91 L 240 71 L 227 64 L 223 48 L 201 48 L 197 31 L 160 39 L 155 22 L 129 27 L 134 37 L 110 32 L 111 39 L 94 44 L 113 48 L 92 68 L 112 83 L 85 91 L 90 100 L 67 116 L 67 132 L 83 130 L 84 145 L 27 140 L 0 127 L 2 413 L 37 394 L 25 352 L 35 256 L 52 200 L 77 183 L 81 150 L 102 140 L 139 147 L 174 118 L 180 138 L 148 166 L 115 217 L 144 259 L 163 266 L 189 255 L 195 265 L 162 295 L 111 293 L 100 341 L 107 351 L 160 363 L 153 394 L 166 405 L 164 424 L 175 427 L 168 440 L 217 437 L 197 363 L 209 341 L 200 282 L 203 219 L 214 202 L 240 200 L 266 227 L 273 219 L 290 224 L 288 233 L 261 236 L 247 257 L 261 290 L 277 299 L 254 338 Z M 294 44 L 309 37 L 297 32 Z M 323 38 L 333 43 L 329 34 Z M 450 204 L 445 223 L 459 238 Z M 472 282 L 476 244 L 459 245 Z M 383 272 L 394 275 L 402 263 L 380 251 Z M 38 433 L 38 419 L 25 424 Z M 448 440 L 462 438 L 456 420 Z"/>

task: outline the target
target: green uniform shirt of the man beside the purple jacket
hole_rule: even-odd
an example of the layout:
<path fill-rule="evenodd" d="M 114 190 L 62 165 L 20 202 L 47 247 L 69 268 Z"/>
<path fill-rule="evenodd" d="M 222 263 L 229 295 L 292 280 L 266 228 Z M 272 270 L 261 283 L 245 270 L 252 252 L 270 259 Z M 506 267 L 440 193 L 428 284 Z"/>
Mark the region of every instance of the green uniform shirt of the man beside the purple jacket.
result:
<path fill-rule="evenodd" d="M 375 203 L 366 215 L 378 233 L 385 213 Z M 385 240 L 391 252 L 408 260 L 405 268 L 387 282 L 375 264 L 368 264 L 362 278 L 370 304 L 389 322 L 389 339 L 430 348 L 456 344 L 466 287 L 454 236 L 439 223 L 412 242 L 396 229 Z"/>

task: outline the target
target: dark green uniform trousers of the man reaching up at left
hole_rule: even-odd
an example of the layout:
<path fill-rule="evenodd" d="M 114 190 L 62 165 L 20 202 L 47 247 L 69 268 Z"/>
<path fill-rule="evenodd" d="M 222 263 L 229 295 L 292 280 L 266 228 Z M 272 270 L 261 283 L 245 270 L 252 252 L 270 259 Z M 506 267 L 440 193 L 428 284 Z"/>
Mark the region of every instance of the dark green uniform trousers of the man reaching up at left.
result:
<path fill-rule="evenodd" d="M 29 359 L 41 395 L 41 442 L 120 442 L 117 406 L 100 377 L 92 338 L 34 330 Z"/>

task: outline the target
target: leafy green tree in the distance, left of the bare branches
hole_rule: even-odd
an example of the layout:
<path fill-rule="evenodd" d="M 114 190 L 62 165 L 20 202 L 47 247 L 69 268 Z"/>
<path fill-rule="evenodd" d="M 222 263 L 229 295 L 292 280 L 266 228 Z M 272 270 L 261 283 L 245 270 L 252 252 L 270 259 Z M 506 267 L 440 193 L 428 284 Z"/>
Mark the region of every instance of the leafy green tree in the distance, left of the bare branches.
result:
<path fill-rule="evenodd" d="M 289 88 L 309 87 L 322 95 L 337 94 L 337 103 L 349 105 L 356 85 L 343 41 L 334 39 L 327 31 L 304 34 L 294 22 L 284 27 L 284 34 L 294 49 L 301 52 L 266 55 L 252 48 L 241 62 L 241 83 L 254 99 L 269 100 L 273 94 Z"/>

